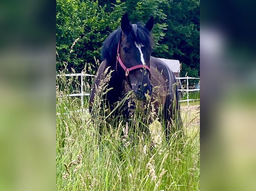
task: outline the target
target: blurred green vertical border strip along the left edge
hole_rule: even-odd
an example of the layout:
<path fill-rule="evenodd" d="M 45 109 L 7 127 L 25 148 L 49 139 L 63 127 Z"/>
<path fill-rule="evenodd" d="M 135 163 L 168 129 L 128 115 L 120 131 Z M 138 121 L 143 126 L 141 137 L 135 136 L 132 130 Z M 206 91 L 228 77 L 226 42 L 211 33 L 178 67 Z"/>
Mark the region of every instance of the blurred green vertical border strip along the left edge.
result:
<path fill-rule="evenodd" d="M 0 2 L 0 190 L 55 190 L 55 2 Z"/>

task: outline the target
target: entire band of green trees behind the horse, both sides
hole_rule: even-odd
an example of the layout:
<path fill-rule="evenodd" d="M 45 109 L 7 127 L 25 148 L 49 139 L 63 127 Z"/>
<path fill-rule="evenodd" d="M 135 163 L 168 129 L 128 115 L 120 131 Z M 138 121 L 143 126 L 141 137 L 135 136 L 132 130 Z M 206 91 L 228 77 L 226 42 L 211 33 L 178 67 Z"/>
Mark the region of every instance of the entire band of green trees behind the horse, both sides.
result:
<path fill-rule="evenodd" d="M 68 61 L 69 70 L 75 68 L 77 72 L 85 63 L 96 67 L 94 57 L 100 60 L 102 43 L 120 26 L 127 12 L 132 23 L 146 23 L 154 16 L 152 56 L 179 60 L 183 73 L 195 77 L 200 72 L 199 8 L 199 0 L 57 0 L 56 70 L 61 70 L 63 61 Z"/>

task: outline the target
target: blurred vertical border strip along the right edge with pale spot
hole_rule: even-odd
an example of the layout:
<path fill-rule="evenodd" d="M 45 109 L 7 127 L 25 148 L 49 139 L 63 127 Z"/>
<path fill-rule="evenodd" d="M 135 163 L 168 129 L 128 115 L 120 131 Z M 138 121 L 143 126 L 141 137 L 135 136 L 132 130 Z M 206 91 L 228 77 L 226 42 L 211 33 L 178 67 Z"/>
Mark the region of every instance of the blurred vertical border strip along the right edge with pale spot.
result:
<path fill-rule="evenodd" d="M 255 190 L 255 3 L 200 6 L 201 189 Z"/>

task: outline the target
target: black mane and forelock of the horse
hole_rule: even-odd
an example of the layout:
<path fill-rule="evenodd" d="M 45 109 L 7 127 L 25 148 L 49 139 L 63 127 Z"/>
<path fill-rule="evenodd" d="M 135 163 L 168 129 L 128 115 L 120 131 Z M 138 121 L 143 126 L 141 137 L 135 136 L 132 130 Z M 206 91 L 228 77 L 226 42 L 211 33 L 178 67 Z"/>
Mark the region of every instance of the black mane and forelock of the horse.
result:
<path fill-rule="evenodd" d="M 153 37 L 151 33 L 142 26 L 142 23 L 138 22 L 135 25 L 130 24 L 130 29 L 125 32 L 128 41 L 143 44 L 145 48 L 153 48 Z M 119 27 L 114 32 L 110 33 L 107 39 L 104 41 L 101 50 L 101 59 L 106 60 L 108 64 L 112 65 L 116 62 L 117 46 L 122 37 L 122 30 Z"/>

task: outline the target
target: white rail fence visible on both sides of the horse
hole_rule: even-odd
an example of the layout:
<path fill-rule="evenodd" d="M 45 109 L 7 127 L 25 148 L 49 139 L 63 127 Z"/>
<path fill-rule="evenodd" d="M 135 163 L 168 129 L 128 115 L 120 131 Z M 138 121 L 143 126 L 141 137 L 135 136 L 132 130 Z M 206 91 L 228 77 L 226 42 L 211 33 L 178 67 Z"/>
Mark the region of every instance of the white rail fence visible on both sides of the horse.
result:
<path fill-rule="evenodd" d="M 57 76 L 62 76 L 62 75 L 57 75 Z M 68 96 L 81 96 L 81 108 L 84 108 L 84 96 L 90 96 L 90 93 L 84 93 L 84 80 L 83 77 L 84 76 L 94 76 L 94 75 L 90 75 L 90 74 L 85 74 L 84 72 L 79 73 L 79 74 L 65 74 L 65 76 L 81 76 L 81 93 L 80 94 L 70 94 Z M 95 77 L 95 76 L 94 76 Z M 183 101 L 187 101 L 187 106 L 189 106 L 189 101 L 194 101 L 194 100 L 200 100 L 199 99 L 189 99 L 189 95 L 188 92 L 193 92 L 193 91 L 199 91 L 200 89 L 193 89 L 193 90 L 189 90 L 188 89 L 188 79 L 200 79 L 200 78 L 191 78 L 191 77 L 179 77 L 176 79 L 186 79 L 186 88 L 187 89 L 179 89 L 178 91 L 182 92 L 182 91 L 186 91 L 187 92 L 187 99 L 185 100 L 179 100 L 179 102 L 183 102 Z"/>

